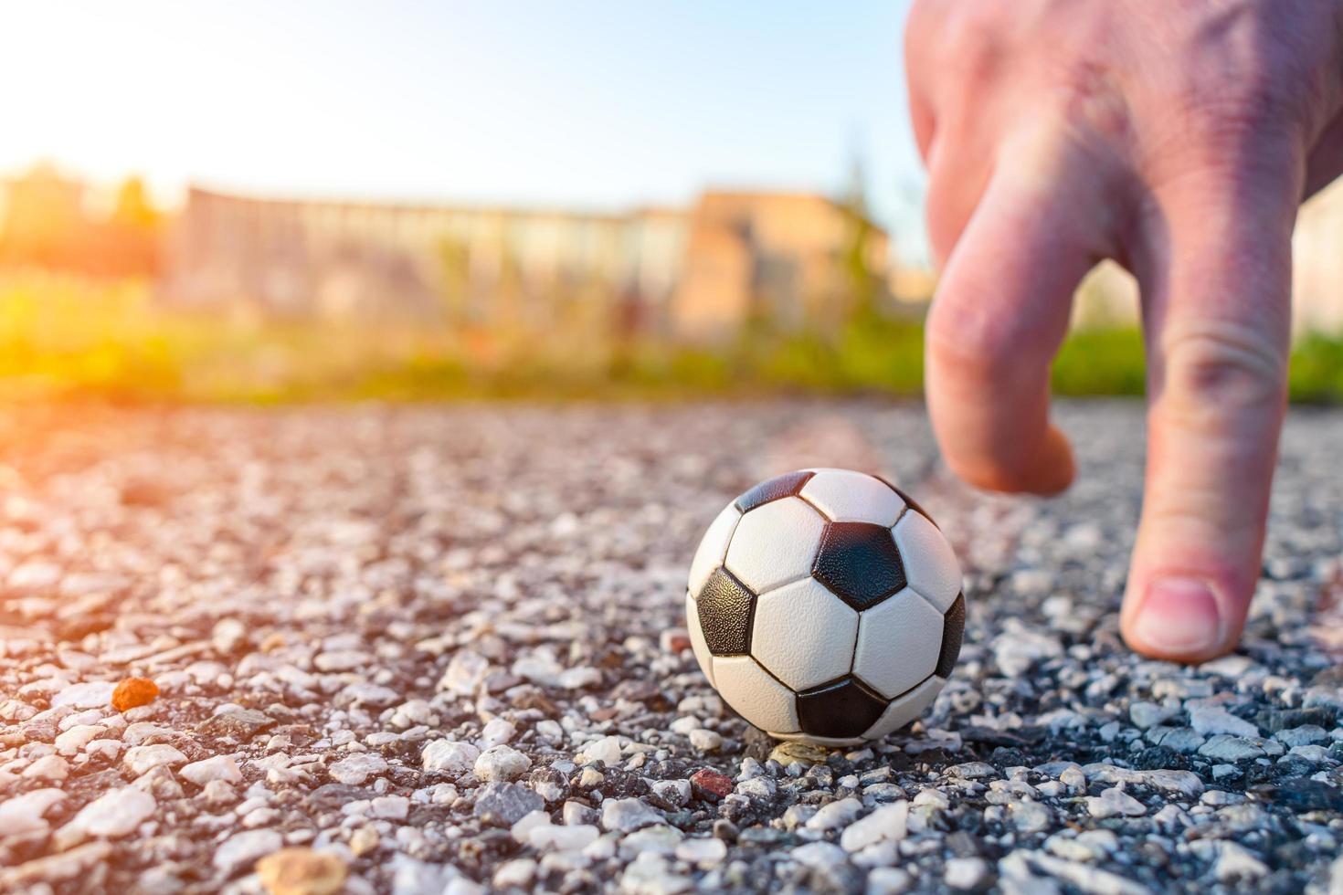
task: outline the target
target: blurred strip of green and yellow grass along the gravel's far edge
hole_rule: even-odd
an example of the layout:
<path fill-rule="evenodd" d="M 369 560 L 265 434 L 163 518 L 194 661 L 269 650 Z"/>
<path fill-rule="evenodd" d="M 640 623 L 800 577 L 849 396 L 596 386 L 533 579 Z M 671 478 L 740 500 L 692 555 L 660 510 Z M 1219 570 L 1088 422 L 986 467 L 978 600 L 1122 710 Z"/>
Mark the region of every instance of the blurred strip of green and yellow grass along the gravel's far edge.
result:
<path fill-rule="evenodd" d="M 165 309 L 144 282 L 0 276 L 0 397 L 287 403 L 348 400 L 917 396 L 923 330 L 860 314 L 833 333 L 756 325 L 733 344 L 678 348 L 594 337 L 577 317 L 509 338 L 423 323 L 263 321 Z M 1142 394 L 1136 330 L 1074 333 L 1054 364 L 1060 394 Z M 1343 401 L 1343 338 L 1292 357 L 1293 400 Z"/>

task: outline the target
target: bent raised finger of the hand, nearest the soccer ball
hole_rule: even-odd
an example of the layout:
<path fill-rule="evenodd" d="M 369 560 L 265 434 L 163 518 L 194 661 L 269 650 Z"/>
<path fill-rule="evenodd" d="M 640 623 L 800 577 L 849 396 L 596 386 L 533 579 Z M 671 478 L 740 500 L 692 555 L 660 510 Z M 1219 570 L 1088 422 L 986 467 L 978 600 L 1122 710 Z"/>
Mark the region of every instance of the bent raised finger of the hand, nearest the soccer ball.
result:
<path fill-rule="evenodd" d="M 1099 177 L 1066 146 L 1003 154 L 928 315 L 928 411 L 967 482 L 1052 494 L 1073 478 L 1049 420 L 1049 369 L 1072 295 L 1104 250 Z"/>

